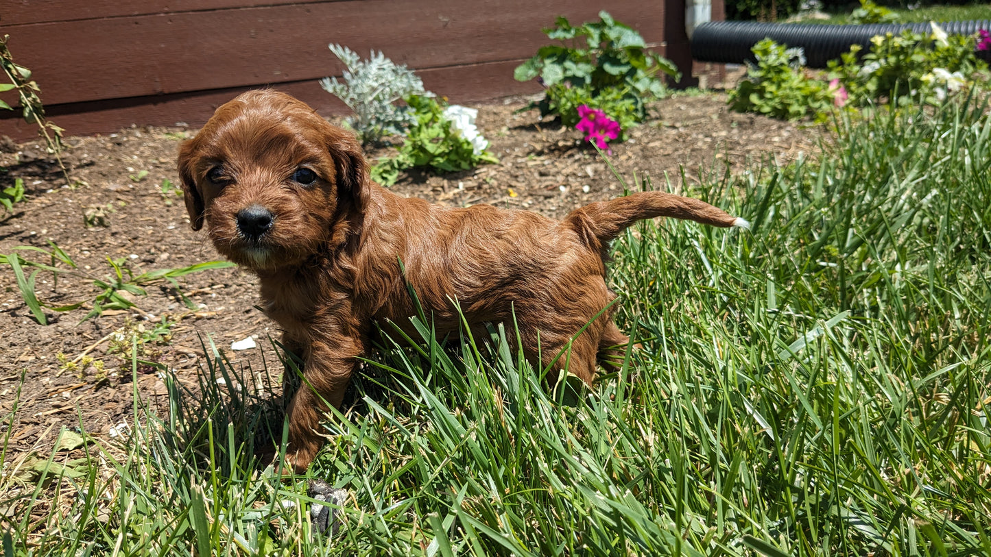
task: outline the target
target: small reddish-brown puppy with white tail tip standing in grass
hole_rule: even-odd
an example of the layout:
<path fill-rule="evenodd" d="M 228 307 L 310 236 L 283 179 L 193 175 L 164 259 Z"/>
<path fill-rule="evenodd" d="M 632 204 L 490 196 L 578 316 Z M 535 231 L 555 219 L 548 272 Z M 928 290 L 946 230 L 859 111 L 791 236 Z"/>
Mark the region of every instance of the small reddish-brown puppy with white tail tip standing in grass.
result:
<path fill-rule="evenodd" d="M 206 223 L 220 253 L 258 274 L 265 313 L 305 361 L 313 390 L 301 387 L 288 408 L 287 459 L 297 471 L 322 444 L 321 399 L 340 406 L 374 322 L 411 332 L 407 281 L 438 335 L 457 333 L 456 303 L 480 331 L 486 322 L 511 325 L 514 313 L 530 361 L 549 365 L 570 343 L 555 365 L 567 361 L 591 384 L 597 360 L 607 364 L 609 348 L 628 342 L 611 309 L 603 312 L 614 298 L 605 281 L 608 241 L 660 216 L 746 226 L 702 201 L 660 192 L 593 203 L 563 222 L 400 198 L 370 181 L 351 133 L 275 91 L 217 109 L 179 148 L 178 169 L 193 230 Z"/>

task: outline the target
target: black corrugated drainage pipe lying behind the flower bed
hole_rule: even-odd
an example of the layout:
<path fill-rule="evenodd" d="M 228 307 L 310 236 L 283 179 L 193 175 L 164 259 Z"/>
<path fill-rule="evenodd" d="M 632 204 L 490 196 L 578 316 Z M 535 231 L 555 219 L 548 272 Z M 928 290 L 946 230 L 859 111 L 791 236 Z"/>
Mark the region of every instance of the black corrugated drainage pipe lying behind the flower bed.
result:
<path fill-rule="evenodd" d="M 991 31 L 991 20 L 943 22 L 937 24 L 949 35 L 975 35 L 979 30 Z M 692 34 L 692 57 L 704 62 L 742 63 L 755 61 L 750 48 L 765 37 L 776 43 L 805 50 L 806 65 L 825 68 L 828 60 L 836 59 L 852 45 L 870 46 L 875 35 L 898 35 L 910 29 L 914 33 L 931 33 L 928 23 L 872 25 L 808 25 L 758 22 L 710 22 L 695 28 Z M 976 45 L 975 45 L 976 46 Z M 985 60 L 991 50 L 977 52 Z"/>

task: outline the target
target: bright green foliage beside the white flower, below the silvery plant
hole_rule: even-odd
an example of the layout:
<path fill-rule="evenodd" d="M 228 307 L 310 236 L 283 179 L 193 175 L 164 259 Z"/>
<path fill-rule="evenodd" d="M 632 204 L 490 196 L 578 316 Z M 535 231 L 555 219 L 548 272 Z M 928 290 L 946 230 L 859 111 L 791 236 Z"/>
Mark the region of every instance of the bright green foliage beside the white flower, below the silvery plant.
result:
<path fill-rule="evenodd" d="M 443 100 L 425 95 L 410 95 L 404 100 L 415 123 L 406 130 L 399 152 L 372 167 L 372 179 L 387 186 L 395 183 L 399 172 L 409 168 L 454 172 L 484 162 L 498 162 L 492 152 L 473 144 L 465 131 L 459 130 L 445 115 L 447 107 Z"/>

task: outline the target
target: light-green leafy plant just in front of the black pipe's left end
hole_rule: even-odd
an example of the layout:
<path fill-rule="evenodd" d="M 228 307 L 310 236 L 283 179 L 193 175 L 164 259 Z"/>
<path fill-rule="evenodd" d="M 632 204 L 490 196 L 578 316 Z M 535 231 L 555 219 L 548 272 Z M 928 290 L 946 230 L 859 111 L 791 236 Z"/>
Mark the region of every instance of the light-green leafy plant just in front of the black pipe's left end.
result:
<path fill-rule="evenodd" d="M 729 106 L 772 118 L 825 120 L 833 94 L 822 80 L 810 79 L 801 49 L 764 39 L 753 46 L 757 63 L 748 64 L 747 77 L 729 91 Z"/>

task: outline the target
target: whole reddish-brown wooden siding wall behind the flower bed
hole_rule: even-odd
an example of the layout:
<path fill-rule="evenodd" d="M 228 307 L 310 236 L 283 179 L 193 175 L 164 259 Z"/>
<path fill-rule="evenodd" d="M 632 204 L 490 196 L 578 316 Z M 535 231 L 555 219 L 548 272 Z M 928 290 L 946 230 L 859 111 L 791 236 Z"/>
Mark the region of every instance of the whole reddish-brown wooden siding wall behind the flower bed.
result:
<path fill-rule="evenodd" d="M 663 51 L 670 1 L 605 7 Z M 330 43 L 363 55 L 381 49 L 452 102 L 536 92 L 535 83 L 515 82 L 512 69 L 548 43 L 541 28 L 559 15 L 597 19 L 603 7 L 601 0 L 0 0 L 0 33 L 11 36 L 18 63 L 34 70 L 55 123 L 90 134 L 131 124 L 198 126 L 217 105 L 259 86 L 341 113 L 316 81 L 341 72 Z M 31 137 L 16 116 L 0 114 L 0 133 Z"/>

